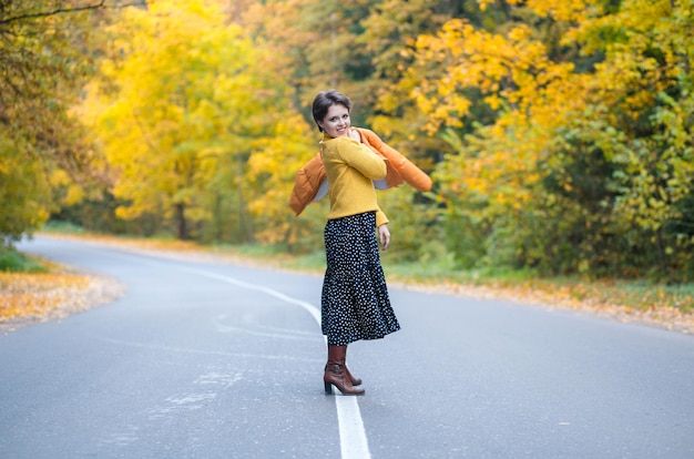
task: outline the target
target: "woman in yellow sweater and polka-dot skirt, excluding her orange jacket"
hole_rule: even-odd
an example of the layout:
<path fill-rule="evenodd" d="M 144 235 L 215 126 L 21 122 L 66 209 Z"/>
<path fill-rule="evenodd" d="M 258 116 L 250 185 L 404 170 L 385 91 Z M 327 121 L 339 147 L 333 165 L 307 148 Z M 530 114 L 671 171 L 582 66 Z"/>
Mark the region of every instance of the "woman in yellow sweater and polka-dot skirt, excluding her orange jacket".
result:
<path fill-rule="evenodd" d="M 346 366 L 347 345 L 378 339 L 400 329 L 395 316 L 378 241 L 390 244 L 388 218 L 378 207 L 374 180 L 386 176 L 381 156 L 360 142 L 351 129 L 351 101 L 335 91 L 320 92 L 313 115 L 323 132 L 320 155 L 328 180 L 330 211 L 325 226 L 327 269 L 323 282 L 322 327 L 328 341 L 326 394 L 333 386 L 344 395 L 363 395 L 360 379 Z"/>

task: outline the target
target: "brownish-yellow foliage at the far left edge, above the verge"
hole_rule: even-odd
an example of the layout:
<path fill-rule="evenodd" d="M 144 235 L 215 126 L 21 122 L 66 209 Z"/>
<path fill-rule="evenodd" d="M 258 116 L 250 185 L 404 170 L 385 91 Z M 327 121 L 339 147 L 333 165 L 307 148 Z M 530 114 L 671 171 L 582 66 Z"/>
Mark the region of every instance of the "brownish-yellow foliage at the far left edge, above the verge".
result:
<path fill-rule="evenodd" d="M 84 11 L 104 1 L 7 0 L 0 6 L 0 239 L 40 227 L 62 197 L 93 182 L 92 151 L 70 115 L 90 75 Z M 64 191 L 64 196 L 54 193 Z"/>

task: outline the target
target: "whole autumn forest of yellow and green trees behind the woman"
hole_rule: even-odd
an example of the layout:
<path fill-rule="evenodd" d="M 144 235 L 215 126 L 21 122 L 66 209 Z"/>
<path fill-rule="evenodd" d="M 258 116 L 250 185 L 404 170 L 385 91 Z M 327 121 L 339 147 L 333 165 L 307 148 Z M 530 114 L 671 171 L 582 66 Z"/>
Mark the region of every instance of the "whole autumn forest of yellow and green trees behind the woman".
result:
<path fill-rule="evenodd" d="M 335 88 L 433 180 L 378 191 L 394 259 L 694 282 L 692 0 L 0 0 L 0 245 L 320 251 Z"/>

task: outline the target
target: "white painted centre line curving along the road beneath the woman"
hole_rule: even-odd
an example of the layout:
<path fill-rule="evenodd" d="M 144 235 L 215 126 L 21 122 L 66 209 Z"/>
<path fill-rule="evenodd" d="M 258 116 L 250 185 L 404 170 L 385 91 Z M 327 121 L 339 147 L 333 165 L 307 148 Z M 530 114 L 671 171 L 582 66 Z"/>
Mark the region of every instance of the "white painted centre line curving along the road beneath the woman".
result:
<path fill-rule="evenodd" d="M 302 302 L 300 299 L 292 298 L 272 288 L 264 287 L 257 284 L 249 284 L 247 282 L 238 280 L 233 277 L 223 276 L 221 274 L 212 273 L 203 269 L 187 269 L 190 273 L 194 273 L 201 276 L 210 277 L 213 279 L 222 280 L 227 284 L 235 285 L 237 287 L 247 288 L 251 290 L 263 292 L 267 295 L 279 298 L 284 302 L 300 306 L 316 320 L 316 324 L 320 326 L 320 310 L 310 303 Z M 337 396 L 335 397 L 335 406 L 337 408 L 337 424 L 339 427 L 340 439 L 340 455 L 343 459 L 369 459 L 371 453 L 369 452 L 369 445 L 364 430 L 364 421 L 361 420 L 361 411 L 359 411 L 359 404 L 355 396 Z"/>

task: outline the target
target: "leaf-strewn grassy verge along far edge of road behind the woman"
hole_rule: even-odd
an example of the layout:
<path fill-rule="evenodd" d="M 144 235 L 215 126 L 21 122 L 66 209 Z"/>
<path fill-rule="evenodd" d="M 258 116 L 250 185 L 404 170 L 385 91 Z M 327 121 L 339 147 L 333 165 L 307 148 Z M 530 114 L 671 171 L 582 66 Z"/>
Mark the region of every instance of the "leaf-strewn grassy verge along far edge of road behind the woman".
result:
<path fill-rule="evenodd" d="M 283 247 L 258 244 L 203 246 L 167 237 L 135 238 L 86 234 L 79 231 L 63 233 L 55 227 L 45 233 L 58 237 L 98 241 L 139 249 L 242 261 L 317 275 L 325 271 L 323 251 L 292 255 Z M 503 268 L 456 271 L 451 268 L 449 259 L 391 263 L 387 253 L 382 254 L 382 263 L 388 282 L 408 288 L 588 309 L 623 320 L 656 322 L 666 328 L 694 333 L 694 284 L 665 285 L 647 279 L 589 279 L 579 276 L 542 277 L 531 271 Z"/>

